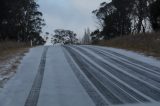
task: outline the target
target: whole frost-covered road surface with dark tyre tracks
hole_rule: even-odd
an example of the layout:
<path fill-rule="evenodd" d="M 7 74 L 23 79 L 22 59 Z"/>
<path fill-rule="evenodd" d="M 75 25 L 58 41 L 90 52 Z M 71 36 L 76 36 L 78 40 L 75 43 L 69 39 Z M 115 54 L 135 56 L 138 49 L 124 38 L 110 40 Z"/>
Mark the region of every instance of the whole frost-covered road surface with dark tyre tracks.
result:
<path fill-rule="evenodd" d="M 98 46 L 32 48 L 0 92 L 0 106 L 159 106 L 159 102 L 158 65 Z"/>

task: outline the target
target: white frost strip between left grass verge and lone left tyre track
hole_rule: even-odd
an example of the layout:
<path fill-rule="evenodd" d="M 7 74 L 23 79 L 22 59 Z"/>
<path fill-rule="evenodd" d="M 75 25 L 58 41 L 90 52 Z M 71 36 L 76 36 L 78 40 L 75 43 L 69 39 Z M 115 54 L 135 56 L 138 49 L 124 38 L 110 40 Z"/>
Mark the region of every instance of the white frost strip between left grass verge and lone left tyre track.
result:
<path fill-rule="evenodd" d="M 0 106 L 24 106 L 37 74 L 43 47 L 32 48 L 23 58 L 16 75 L 0 92 Z"/>

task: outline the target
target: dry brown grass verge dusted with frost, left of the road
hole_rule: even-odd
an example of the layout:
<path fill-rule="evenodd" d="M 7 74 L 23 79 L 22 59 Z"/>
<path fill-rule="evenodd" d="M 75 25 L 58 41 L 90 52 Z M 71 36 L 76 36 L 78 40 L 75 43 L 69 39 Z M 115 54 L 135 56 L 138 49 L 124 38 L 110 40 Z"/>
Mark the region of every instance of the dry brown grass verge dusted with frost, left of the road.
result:
<path fill-rule="evenodd" d="M 28 44 L 14 41 L 0 42 L 0 87 L 16 73 Z"/>

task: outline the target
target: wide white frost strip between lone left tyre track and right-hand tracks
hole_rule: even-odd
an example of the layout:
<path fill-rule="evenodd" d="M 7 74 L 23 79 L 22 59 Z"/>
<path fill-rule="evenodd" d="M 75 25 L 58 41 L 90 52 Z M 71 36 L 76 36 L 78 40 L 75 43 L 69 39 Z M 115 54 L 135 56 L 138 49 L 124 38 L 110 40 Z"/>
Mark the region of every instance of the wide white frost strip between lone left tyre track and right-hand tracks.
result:
<path fill-rule="evenodd" d="M 61 46 L 49 47 L 37 106 L 95 106 L 67 63 Z"/>

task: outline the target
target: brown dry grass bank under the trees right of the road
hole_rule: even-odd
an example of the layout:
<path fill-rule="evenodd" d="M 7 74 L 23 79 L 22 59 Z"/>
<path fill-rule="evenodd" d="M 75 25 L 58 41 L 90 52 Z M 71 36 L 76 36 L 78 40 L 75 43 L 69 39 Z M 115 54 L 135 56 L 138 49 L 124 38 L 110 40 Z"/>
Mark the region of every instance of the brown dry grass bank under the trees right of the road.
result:
<path fill-rule="evenodd" d="M 139 51 L 160 57 L 160 33 L 123 36 L 108 41 L 98 41 L 96 44 Z"/>

